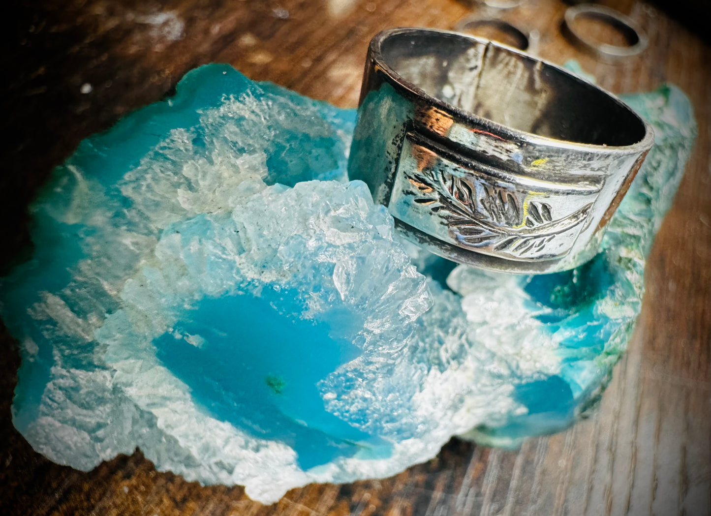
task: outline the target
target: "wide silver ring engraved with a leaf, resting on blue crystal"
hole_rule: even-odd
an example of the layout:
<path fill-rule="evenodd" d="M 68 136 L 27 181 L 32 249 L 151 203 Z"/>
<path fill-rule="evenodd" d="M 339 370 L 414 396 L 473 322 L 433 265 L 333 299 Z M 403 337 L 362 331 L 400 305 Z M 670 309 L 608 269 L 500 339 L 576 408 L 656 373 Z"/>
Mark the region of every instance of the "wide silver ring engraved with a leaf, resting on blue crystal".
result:
<path fill-rule="evenodd" d="M 348 173 L 436 254 L 557 272 L 597 254 L 652 143 L 634 111 L 556 65 L 396 28 L 370 41 Z"/>

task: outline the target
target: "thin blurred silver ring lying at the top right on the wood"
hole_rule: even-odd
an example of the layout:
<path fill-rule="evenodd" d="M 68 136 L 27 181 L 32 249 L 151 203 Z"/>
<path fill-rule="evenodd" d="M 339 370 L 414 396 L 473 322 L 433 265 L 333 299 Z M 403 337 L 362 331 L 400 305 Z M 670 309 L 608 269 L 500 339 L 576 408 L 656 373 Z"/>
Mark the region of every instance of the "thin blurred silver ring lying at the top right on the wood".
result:
<path fill-rule="evenodd" d="M 609 23 L 609 25 L 619 29 L 624 34 L 630 43 L 629 46 L 597 43 L 597 41 L 586 38 L 574 26 L 575 19 L 579 17 L 594 18 Z M 642 29 L 638 28 L 631 18 L 609 7 L 594 4 L 572 6 L 565 11 L 563 21 L 565 34 L 572 42 L 599 58 L 626 58 L 641 53 L 642 50 L 647 48 L 648 39 Z"/>

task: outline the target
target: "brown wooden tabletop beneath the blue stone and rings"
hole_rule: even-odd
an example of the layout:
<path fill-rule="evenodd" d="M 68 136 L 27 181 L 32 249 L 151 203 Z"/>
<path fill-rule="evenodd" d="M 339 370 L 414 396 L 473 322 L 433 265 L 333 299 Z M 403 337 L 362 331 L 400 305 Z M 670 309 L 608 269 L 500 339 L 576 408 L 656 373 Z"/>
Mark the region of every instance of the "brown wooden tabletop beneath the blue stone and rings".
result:
<path fill-rule="evenodd" d="M 568 431 L 530 439 L 518 452 L 453 439 L 395 477 L 308 485 L 266 506 L 239 486 L 159 473 L 140 451 L 90 473 L 50 463 L 12 426 L 19 355 L 0 330 L 0 515 L 709 514 L 711 50 L 648 4 L 616 6 L 647 31 L 649 48 L 600 63 L 560 36 L 566 6 L 558 0 L 523 0 L 508 11 L 455 0 L 22 2 L 6 19 L 11 45 L 0 57 L 9 72 L 3 266 L 26 244 L 23 209 L 50 168 L 82 138 L 159 100 L 191 68 L 231 63 L 253 79 L 355 107 L 366 45 L 392 26 L 453 28 L 472 13 L 513 21 L 540 33 L 543 58 L 575 58 L 613 92 L 674 82 L 694 104 L 699 136 L 648 262 L 629 351 L 597 413 Z"/>

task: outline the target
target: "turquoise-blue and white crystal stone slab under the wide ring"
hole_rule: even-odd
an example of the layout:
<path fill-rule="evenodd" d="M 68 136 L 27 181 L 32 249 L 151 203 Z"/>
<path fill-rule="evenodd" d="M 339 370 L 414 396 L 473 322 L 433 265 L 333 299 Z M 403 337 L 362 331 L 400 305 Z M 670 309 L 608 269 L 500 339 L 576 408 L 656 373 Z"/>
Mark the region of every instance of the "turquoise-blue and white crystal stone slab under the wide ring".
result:
<path fill-rule="evenodd" d="M 1 286 L 14 424 L 82 470 L 159 470 L 277 500 L 395 474 L 453 435 L 500 446 L 594 404 L 695 124 L 675 87 L 626 98 L 656 144 L 579 269 L 513 276 L 400 242 L 348 183 L 354 110 L 225 65 L 80 144 L 31 206 Z"/>

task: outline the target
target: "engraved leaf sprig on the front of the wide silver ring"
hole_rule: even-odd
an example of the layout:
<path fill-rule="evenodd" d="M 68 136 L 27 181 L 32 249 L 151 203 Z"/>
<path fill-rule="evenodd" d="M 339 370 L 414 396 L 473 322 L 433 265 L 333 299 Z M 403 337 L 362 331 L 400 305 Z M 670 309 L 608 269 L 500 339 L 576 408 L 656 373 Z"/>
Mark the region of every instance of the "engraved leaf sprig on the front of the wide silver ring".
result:
<path fill-rule="evenodd" d="M 555 220 L 548 203 L 525 203 L 514 191 L 487 184 L 476 190 L 466 179 L 442 169 L 409 179 L 415 187 L 415 203 L 428 205 L 433 213 L 444 211 L 459 242 L 517 257 L 546 254 L 556 235 L 578 225 L 592 208 L 589 203 Z"/>

